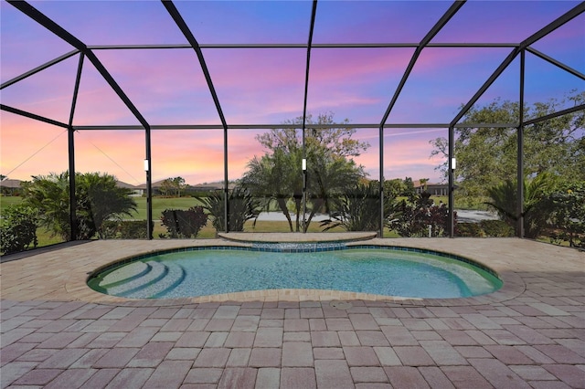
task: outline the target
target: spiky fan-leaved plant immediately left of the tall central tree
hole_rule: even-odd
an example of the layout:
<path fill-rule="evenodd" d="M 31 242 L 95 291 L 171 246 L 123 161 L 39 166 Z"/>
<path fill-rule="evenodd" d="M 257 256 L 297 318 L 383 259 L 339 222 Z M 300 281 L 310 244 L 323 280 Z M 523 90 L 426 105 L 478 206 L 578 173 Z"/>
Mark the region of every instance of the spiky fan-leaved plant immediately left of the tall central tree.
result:
<path fill-rule="evenodd" d="M 212 217 L 212 226 L 217 232 L 225 231 L 225 202 L 221 191 L 216 191 L 205 197 L 197 196 Z M 260 215 L 261 201 L 250 194 L 246 188 L 236 185 L 229 191 L 229 231 L 243 231 L 248 220 L 256 219 Z"/>

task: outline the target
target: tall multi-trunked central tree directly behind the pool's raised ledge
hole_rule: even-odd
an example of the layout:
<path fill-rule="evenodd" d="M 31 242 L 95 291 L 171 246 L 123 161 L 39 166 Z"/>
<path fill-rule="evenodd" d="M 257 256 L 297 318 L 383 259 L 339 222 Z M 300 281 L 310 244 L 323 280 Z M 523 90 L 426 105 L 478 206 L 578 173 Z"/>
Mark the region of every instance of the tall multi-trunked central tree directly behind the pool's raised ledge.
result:
<path fill-rule="evenodd" d="M 291 231 L 306 231 L 312 218 L 318 212 L 328 211 L 332 196 L 340 195 L 365 176 L 362 166 L 351 159 L 367 150 L 367 142 L 352 139 L 355 129 L 344 127 L 343 121 L 333 128 L 321 129 L 316 125 L 334 125 L 333 113 L 320 114 L 316 120 L 311 115 L 306 118 L 304 139 L 302 132 L 295 129 L 272 129 L 258 135 L 257 141 L 266 149 L 260 158 L 254 156 L 244 173 L 241 184 L 252 195 L 265 198 L 268 208 L 276 202 L 282 214 L 286 216 Z M 302 127 L 303 118 L 285 121 Z M 303 157 L 307 161 L 306 184 L 309 215 L 302 226 L 303 214 Z M 288 209 L 289 200 L 293 201 L 296 220 Z"/>

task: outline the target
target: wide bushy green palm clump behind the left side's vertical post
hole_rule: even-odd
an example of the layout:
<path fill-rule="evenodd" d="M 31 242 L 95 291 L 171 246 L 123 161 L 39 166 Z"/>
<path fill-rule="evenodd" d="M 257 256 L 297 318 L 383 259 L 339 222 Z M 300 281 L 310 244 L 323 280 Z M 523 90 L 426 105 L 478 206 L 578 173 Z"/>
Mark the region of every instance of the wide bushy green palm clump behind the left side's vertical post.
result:
<path fill-rule="evenodd" d="M 107 173 L 76 173 L 77 202 L 76 239 L 90 239 L 101 231 L 105 220 L 131 216 L 136 203 L 130 189 L 116 185 L 116 178 Z M 70 240 L 69 172 L 33 177 L 23 183 L 23 204 L 38 210 L 39 225 L 53 235 Z"/>

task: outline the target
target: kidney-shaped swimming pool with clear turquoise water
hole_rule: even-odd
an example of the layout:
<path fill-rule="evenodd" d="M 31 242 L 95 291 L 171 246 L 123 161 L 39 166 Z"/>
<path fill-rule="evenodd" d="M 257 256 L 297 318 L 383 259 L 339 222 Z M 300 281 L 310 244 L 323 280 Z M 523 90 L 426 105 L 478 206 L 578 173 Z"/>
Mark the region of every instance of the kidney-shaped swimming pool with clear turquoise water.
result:
<path fill-rule="evenodd" d="M 491 293 L 502 281 L 467 258 L 409 247 L 255 245 L 188 247 L 101 268 L 88 279 L 102 293 L 176 299 L 258 289 L 331 289 L 449 299 Z"/>

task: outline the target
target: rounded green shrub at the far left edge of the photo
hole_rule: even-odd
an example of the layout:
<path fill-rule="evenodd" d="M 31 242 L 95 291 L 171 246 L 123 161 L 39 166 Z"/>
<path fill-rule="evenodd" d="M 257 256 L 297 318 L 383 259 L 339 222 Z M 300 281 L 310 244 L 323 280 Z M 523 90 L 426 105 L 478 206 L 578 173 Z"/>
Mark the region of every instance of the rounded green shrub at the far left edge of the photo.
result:
<path fill-rule="evenodd" d="M 30 245 L 37 247 L 37 211 L 26 205 L 5 209 L 0 224 L 0 251 L 4 254 L 24 251 Z"/>

